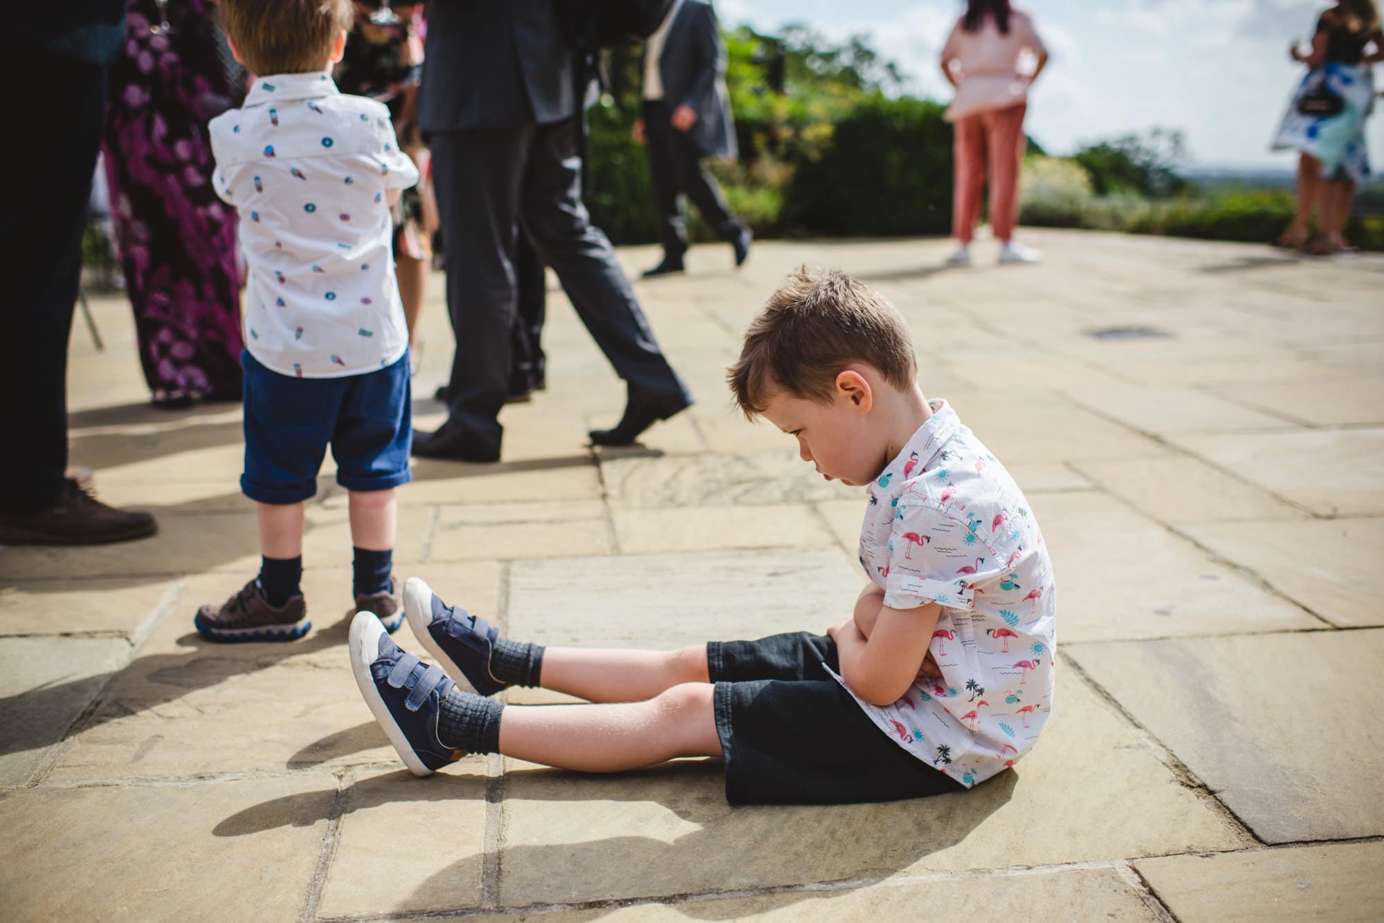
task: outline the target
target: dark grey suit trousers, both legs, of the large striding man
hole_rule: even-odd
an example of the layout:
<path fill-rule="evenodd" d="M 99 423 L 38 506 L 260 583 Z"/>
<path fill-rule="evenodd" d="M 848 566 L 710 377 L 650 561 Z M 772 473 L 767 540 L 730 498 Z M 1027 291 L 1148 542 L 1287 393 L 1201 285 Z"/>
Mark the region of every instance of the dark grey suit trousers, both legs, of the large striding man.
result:
<path fill-rule="evenodd" d="M 429 134 L 457 334 L 448 424 L 498 448 L 518 304 L 516 224 L 631 394 L 688 397 L 581 203 L 577 120 Z"/>

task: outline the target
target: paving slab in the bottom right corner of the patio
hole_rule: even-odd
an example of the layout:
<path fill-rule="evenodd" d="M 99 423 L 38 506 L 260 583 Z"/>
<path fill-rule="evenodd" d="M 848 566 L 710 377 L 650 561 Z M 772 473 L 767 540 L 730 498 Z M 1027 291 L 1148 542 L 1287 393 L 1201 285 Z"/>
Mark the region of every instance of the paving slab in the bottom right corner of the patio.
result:
<path fill-rule="evenodd" d="M 1384 843 L 1334 843 L 1135 862 L 1182 923 L 1384 919 Z"/>

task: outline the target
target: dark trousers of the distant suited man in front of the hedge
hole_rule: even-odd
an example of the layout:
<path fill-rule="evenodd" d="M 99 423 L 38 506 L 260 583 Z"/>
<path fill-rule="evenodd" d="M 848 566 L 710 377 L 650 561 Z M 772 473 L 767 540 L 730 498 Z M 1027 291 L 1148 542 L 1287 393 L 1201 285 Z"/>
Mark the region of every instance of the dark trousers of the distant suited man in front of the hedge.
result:
<path fill-rule="evenodd" d="M 702 152 L 685 131 L 673 127 L 671 117 L 673 106 L 666 102 L 644 104 L 644 131 L 649 146 L 653 202 L 659 209 L 659 236 L 664 253 L 678 257 L 688 249 L 678 193 L 692 200 L 722 240 L 734 240 L 742 225 L 725 204 L 721 185 L 702 169 Z"/>

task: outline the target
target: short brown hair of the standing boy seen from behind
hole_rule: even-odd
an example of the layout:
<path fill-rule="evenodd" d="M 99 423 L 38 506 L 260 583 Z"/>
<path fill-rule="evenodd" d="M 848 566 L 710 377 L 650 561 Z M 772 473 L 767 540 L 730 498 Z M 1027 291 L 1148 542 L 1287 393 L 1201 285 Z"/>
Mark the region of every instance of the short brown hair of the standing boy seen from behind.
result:
<path fill-rule="evenodd" d="M 311 73 L 354 21 L 352 0 L 221 0 L 221 25 L 256 75 Z"/>

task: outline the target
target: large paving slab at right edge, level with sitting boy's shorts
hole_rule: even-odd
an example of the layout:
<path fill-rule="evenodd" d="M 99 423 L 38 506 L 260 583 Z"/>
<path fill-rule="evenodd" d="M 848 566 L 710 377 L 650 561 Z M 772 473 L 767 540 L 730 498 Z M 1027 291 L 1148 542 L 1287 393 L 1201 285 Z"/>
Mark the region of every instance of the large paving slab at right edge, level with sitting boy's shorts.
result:
<path fill-rule="evenodd" d="M 1384 630 L 1063 649 L 1264 841 L 1384 835 Z"/>

